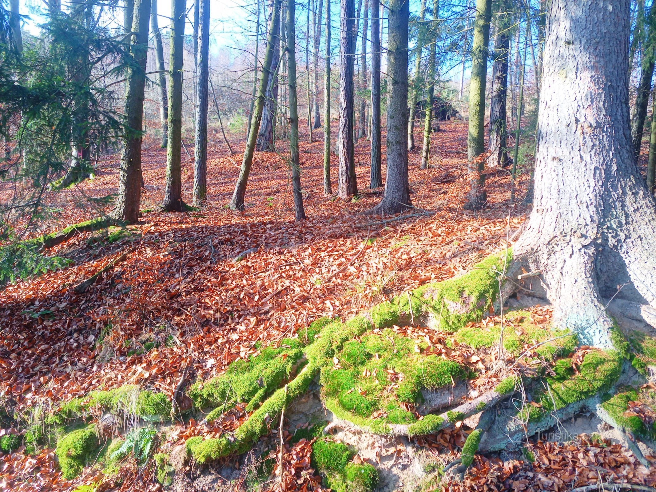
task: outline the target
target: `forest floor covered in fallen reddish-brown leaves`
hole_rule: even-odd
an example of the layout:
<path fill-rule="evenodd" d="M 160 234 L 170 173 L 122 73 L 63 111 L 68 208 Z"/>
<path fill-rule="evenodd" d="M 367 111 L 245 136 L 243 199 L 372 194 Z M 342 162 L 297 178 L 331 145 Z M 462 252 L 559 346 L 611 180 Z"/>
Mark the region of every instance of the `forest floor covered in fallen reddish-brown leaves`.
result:
<path fill-rule="evenodd" d="M 411 199 L 416 209 L 401 218 L 385 218 L 363 214 L 382 197 L 382 188 L 367 188 L 368 142 L 356 144 L 360 195 L 344 202 L 323 195 L 322 134 L 309 144 L 302 133 L 300 161 L 308 220 L 298 223 L 293 220 L 289 169 L 283 157 L 273 153 L 255 156 L 245 212 L 227 208 L 241 154 L 227 155 L 220 133 L 211 136 L 209 145 L 207 207 L 160 213 L 166 152 L 149 138 L 143 154 L 142 220 L 113 234 L 77 234 L 49 251 L 71 258 L 73 264 L 0 291 L 0 401 L 16 415 L 36 407 L 56 408 L 92 390 L 127 384 L 173 398 L 176 388 L 220 375 L 232 361 L 258 354 L 262 346 L 293 336 L 318 318 L 348 319 L 408 289 L 466 272 L 489 253 L 502 251 L 529 210 L 520 202 L 527 175 L 518 180 L 518 201 L 510 203 L 508 171 L 492 170 L 487 174 L 489 207 L 476 213 L 462 211 L 468 185 L 466 134 L 466 123 L 441 123 L 428 170 L 419 169 L 420 150 L 410 154 Z M 243 149 L 243 140 L 232 136 L 231 143 L 236 150 Z M 187 149 L 193 155 L 192 148 Z M 102 205 L 92 205 L 95 202 L 88 197 L 115 192 L 116 166 L 113 156 L 102 163 L 94 180 L 46 194 L 52 215 L 33 234 L 108 212 Z M 331 170 L 336 189 L 335 155 Z M 183 150 L 186 201 L 191 198 L 192 180 L 193 159 Z M 11 193 L 10 188 L 0 190 L 3 200 Z M 75 291 L 75 286 L 114 261 L 113 268 L 87 291 Z M 537 324 L 546 326 L 550 310 L 538 308 L 533 316 Z M 485 323 L 489 321 L 482 321 L 481 329 Z M 423 337 L 439 335 L 426 327 L 419 331 Z M 450 354 L 472 365 L 480 361 L 462 350 Z M 233 422 L 246 418 L 239 407 L 225 417 Z M 196 415 L 174 423 L 161 447 L 173 449 L 184 438 L 220 434 L 231 425 L 228 420 L 214 426 L 199 420 L 202 417 Z M 445 456 L 457 457 L 468 432 L 465 428 L 419 438 L 413 445 L 444 462 Z M 4 428 L 0 435 L 19 431 Z M 447 487 L 564 490 L 596 483 L 601 476 L 648 485 L 656 482 L 653 472 L 630 452 L 607 444 L 585 436 L 567 444 L 539 441 L 532 464 L 477 457 L 465 481 Z M 398 453 L 405 453 L 401 448 Z M 307 449 L 285 445 L 288 473 L 295 477 L 288 488 L 321 487 L 307 458 Z M 243 458 L 226 459 L 220 466 L 215 470 L 245 468 Z M 188 466 L 189 483 L 206 468 Z M 104 483 L 97 490 L 160 487 L 152 466 L 137 469 L 126 462 L 122 470 L 125 480 L 118 484 L 107 485 L 92 466 L 81 478 L 68 482 L 58 470 L 53 449 L 30 456 L 19 447 L 12 453 L 0 451 L 0 490 L 82 491 L 78 487 L 85 483 Z M 213 483 L 220 482 L 215 478 Z"/>

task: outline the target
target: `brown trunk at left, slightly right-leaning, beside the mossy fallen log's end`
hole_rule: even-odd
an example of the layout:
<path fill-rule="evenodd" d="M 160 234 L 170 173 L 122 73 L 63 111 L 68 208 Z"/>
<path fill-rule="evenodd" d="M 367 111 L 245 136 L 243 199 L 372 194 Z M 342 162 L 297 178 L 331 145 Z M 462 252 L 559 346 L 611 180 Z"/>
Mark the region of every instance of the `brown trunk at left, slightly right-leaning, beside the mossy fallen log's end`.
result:
<path fill-rule="evenodd" d="M 127 67 L 125 81 L 125 125 L 127 132 L 121 151 L 119 192 L 112 217 L 134 224 L 139 218 L 141 199 L 141 142 L 148 58 L 148 21 L 150 0 L 136 0 L 130 36 L 133 63 Z"/>

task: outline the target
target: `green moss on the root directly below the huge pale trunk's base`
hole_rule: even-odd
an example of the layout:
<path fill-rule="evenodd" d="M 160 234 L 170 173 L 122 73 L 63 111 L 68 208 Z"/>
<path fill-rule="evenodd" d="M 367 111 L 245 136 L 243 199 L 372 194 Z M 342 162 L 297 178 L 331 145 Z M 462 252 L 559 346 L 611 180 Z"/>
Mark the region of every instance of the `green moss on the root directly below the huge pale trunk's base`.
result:
<path fill-rule="evenodd" d="M 579 367 L 579 373 L 566 377 L 567 363 L 558 369 L 556 377 L 546 377 L 549 391 L 533 395 L 540 407 L 529 407 L 529 419 L 539 420 L 551 411 L 577 401 L 590 398 L 609 389 L 621 373 L 623 359 L 615 350 L 588 352 Z"/>

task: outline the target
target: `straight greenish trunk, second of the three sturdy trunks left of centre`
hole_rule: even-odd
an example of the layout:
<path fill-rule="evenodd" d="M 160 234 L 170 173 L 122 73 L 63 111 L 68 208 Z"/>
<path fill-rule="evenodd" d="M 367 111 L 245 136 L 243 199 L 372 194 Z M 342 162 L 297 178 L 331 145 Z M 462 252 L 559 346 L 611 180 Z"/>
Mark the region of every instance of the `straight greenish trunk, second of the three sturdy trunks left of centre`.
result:
<path fill-rule="evenodd" d="M 171 5 L 171 41 L 169 50 L 169 146 L 166 159 L 166 189 L 161 209 L 165 212 L 182 212 L 182 56 L 184 53 L 184 18 L 186 0 L 173 0 Z"/>

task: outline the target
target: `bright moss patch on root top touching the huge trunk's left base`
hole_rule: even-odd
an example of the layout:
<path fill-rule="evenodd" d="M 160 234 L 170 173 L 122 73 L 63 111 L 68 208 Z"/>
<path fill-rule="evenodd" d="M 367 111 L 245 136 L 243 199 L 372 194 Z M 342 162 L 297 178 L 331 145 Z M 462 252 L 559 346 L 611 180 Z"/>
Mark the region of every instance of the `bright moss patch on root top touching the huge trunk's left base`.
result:
<path fill-rule="evenodd" d="M 445 331 L 457 331 L 469 322 L 479 321 L 499 294 L 498 277 L 505 260 L 505 253 L 487 256 L 462 276 L 401 295 L 396 300 L 399 310 L 406 316 L 432 314 L 436 327 Z M 507 260 L 512 260 L 510 251 Z"/>

